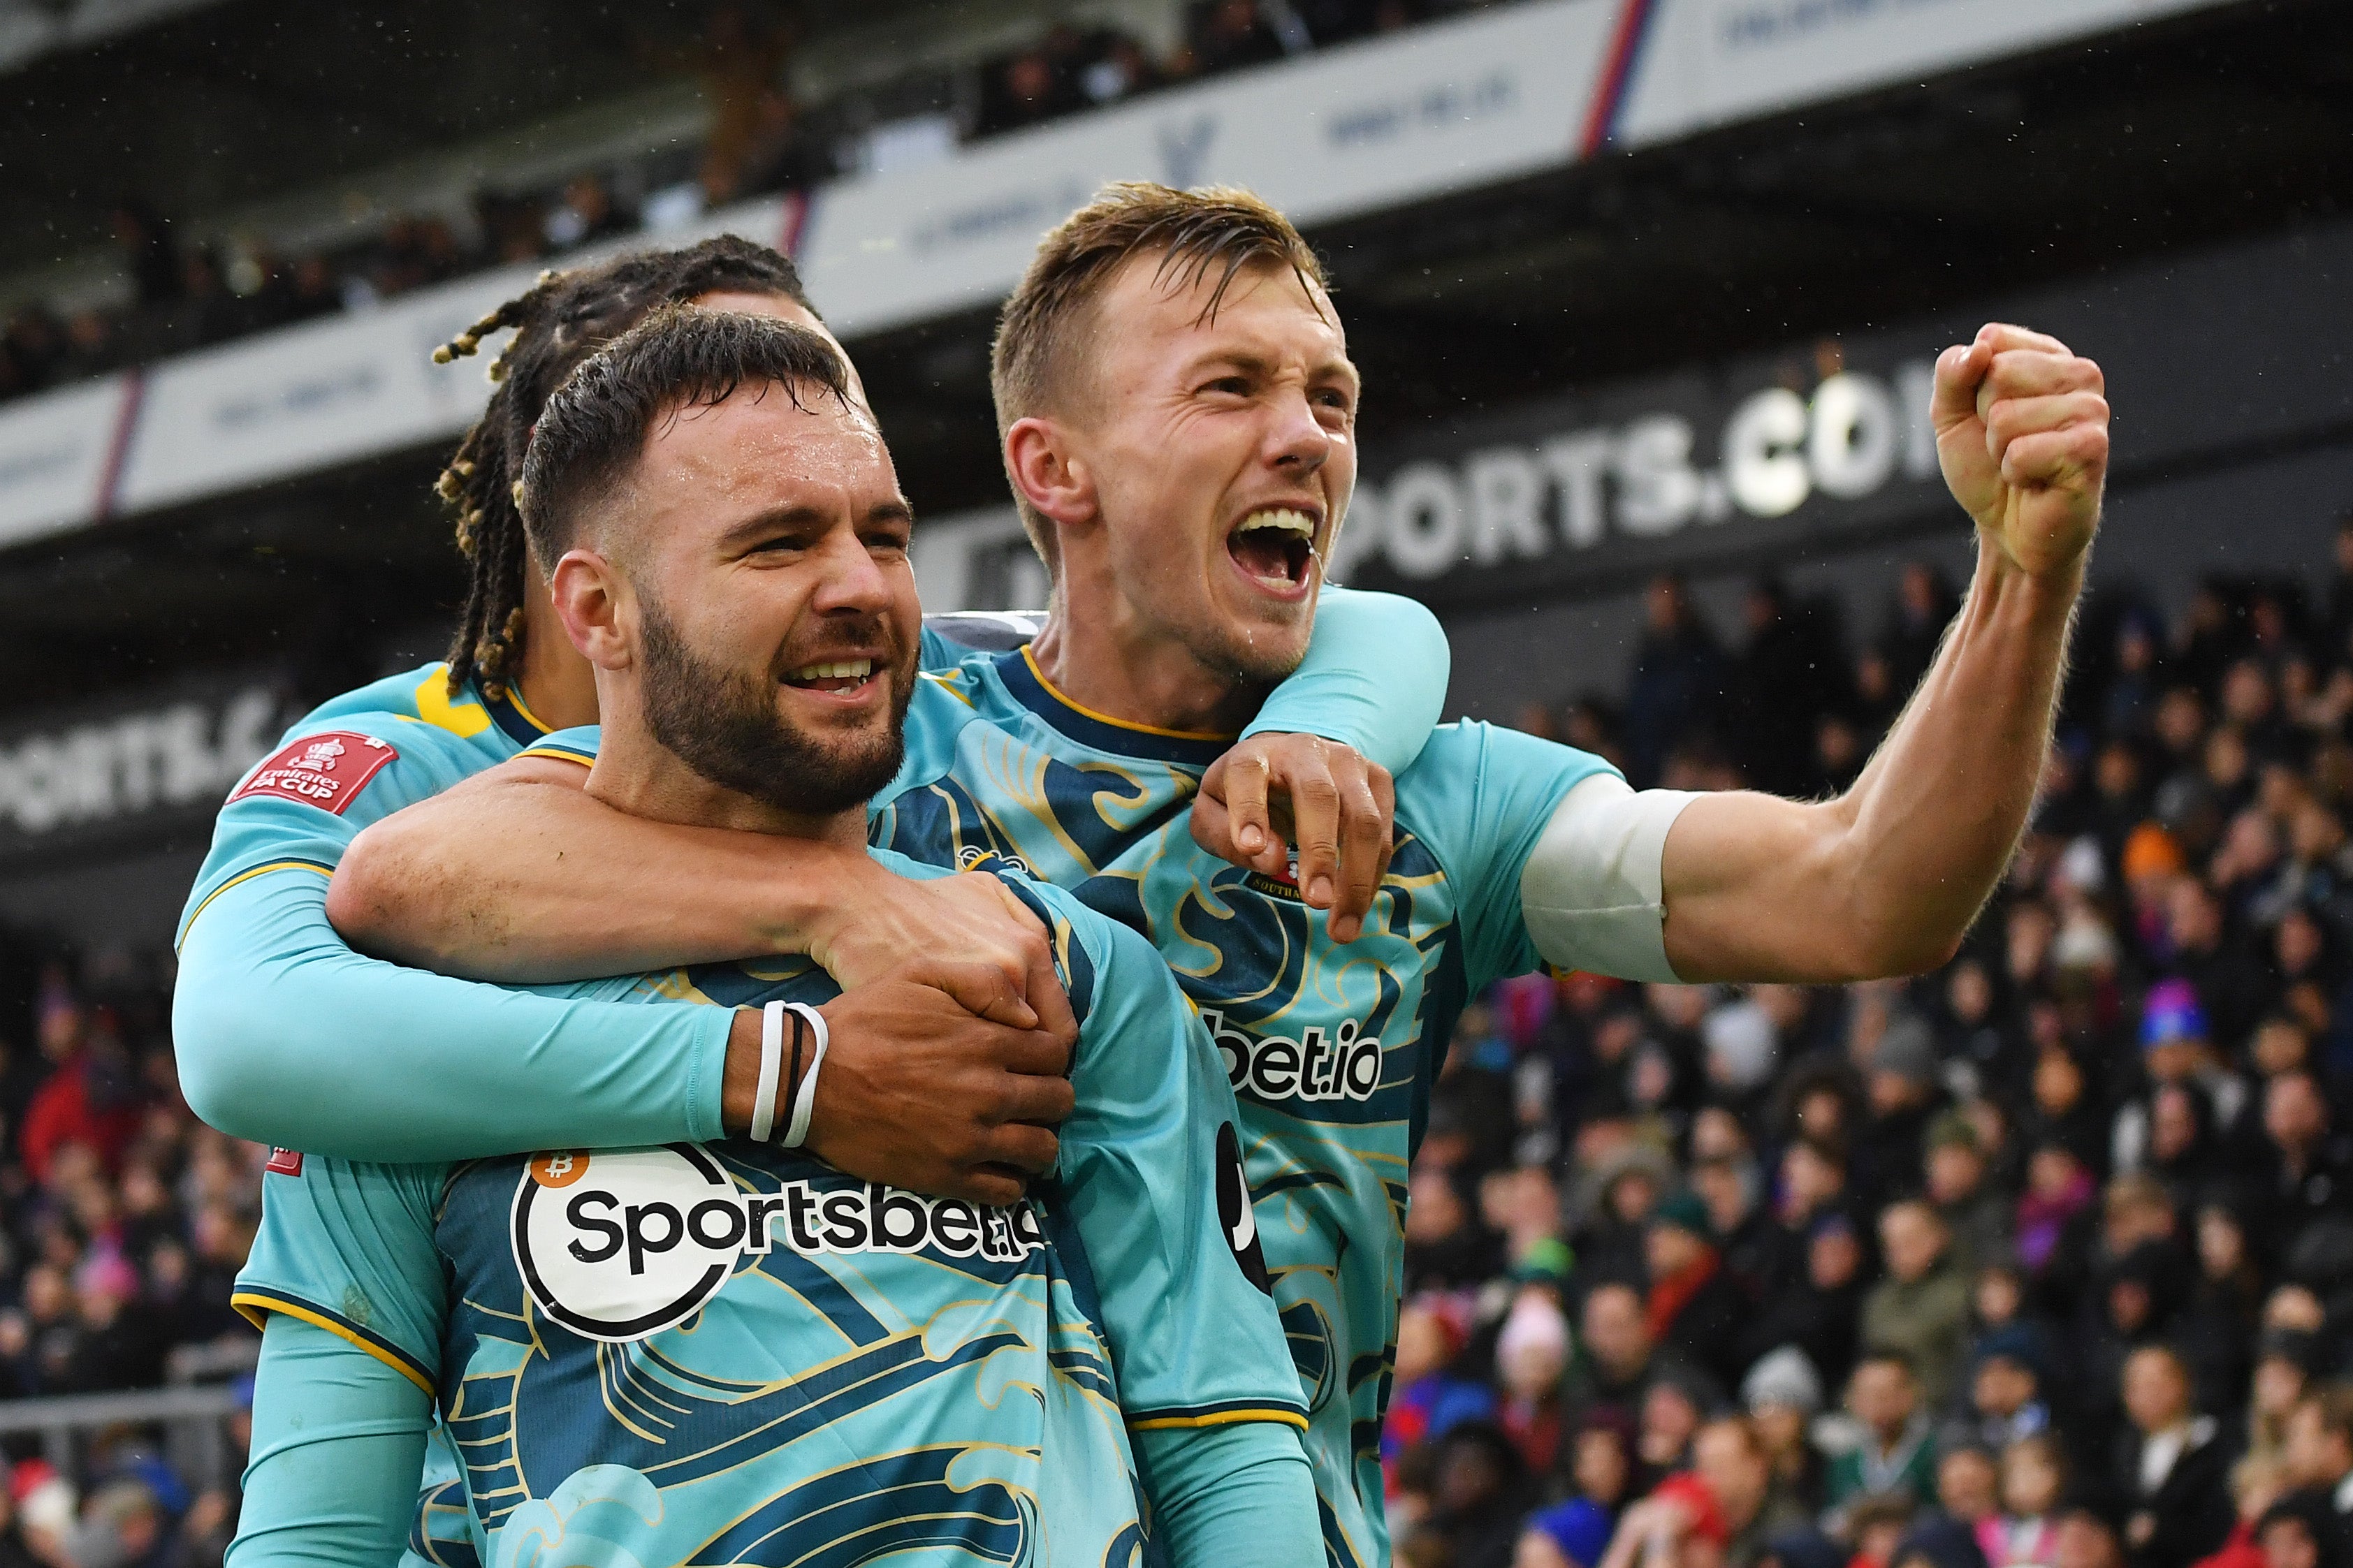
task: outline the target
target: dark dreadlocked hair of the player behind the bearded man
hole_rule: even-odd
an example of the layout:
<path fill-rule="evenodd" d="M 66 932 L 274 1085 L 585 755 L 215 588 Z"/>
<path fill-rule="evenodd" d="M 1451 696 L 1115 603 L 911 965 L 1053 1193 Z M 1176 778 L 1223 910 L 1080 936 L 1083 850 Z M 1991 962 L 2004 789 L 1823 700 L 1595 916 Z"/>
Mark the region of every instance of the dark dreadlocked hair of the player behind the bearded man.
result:
<path fill-rule="evenodd" d="M 478 353 L 482 339 L 508 327 L 515 331 L 489 364 L 496 386 L 489 407 L 433 484 L 468 567 L 466 607 L 449 639 L 449 696 L 468 679 L 485 696 L 504 696 L 522 668 L 525 574 L 534 567 L 515 491 L 532 425 L 548 397 L 581 360 L 659 306 L 722 289 L 781 294 L 816 315 L 791 256 L 720 235 L 685 249 L 633 252 L 569 273 L 541 273 L 527 292 L 433 350 L 435 364 L 449 364 Z"/>

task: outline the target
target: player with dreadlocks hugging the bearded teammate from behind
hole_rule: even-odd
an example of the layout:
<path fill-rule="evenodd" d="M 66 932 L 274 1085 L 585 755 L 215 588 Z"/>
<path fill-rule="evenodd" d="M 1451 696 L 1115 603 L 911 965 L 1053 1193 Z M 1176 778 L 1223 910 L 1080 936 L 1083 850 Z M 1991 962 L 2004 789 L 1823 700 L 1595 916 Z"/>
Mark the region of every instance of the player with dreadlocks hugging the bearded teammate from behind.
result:
<path fill-rule="evenodd" d="M 515 334 L 492 364 L 489 407 L 438 487 L 471 569 L 466 609 L 447 663 L 379 679 L 311 712 L 221 816 L 214 856 L 181 922 L 174 1001 L 181 1081 L 214 1126 L 287 1147 L 424 1159 L 584 1135 L 593 1143 L 715 1135 L 751 1117 L 758 1051 L 741 1018 L 605 1013 L 452 983 L 353 954 L 325 919 L 327 875 L 351 835 L 414 795 L 400 766 L 405 729 L 454 733 L 487 769 L 551 726 L 595 717 L 579 656 L 560 635 L 529 637 L 546 614 L 546 592 L 527 567 L 513 487 L 532 423 L 565 374 L 652 308 L 675 301 L 819 327 L 788 259 L 720 237 L 541 275 L 435 355 L 471 355 L 494 331 Z M 1064 1103 L 1052 1077 L 1064 1041 L 1028 1027 L 1035 1016 L 1016 992 L 988 994 L 995 971 L 986 961 L 979 978 L 972 964 L 955 966 L 974 952 L 1019 954 L 1021 924 L 998 900 L 969 898 L 986 889 L 953 884 L 908 898 L 906 884 L 856 879 L 856 867 L 826 863 L 802 865 L 809 872 L 802 877 L 779 875 L 791 870 L 781 860 L 760 872 L 774 877 L 781 922 L 816 924 L 812 910 L 845 917 L 840 929 L 816 926 L 819 952 L 866 931 L 915 929 L 951 959 L 925 978 L 974 1001 L 967 1011 L 941 990 L 896 985 L 861 987 L 835 1004 L 847 1013 L 835 1020 L 847 1070 L 828 1086 L 833 1103 L 821 1126 L 852 1138 L 833 1150 L 835 1159 L 965 1197 L 1002 1197 L 1019 1168 L 1052 1161 L 1052 1135 L 1024 1124 L 1052 1121 Z M 889 903 L 878 912 L 873 900 Z M 1016 961 L 1024 973 L 1038 971 L 1042 943 Z M 1052 1011 L 1045 992 L 1040 1001 Z M 998 1023 L 976 1016 L 991 1004 Z M 854 1016 L 861 1009 L 866 1018 Z M 322 1020 L 332 1020 L 344 1048 L 320 1048 Z M 936 1056 L 906 1060 L 904 1051 L 882 1051 L 892 1077 L 946 1074 L 969 1103 L 1002 1105 L 1009 1112 L 1002 1126 L 984 1131 L 976 1119 L 936 1107 L 918 1114 L 856 1103 L 864 1081 L 856 1063 L 866 1051 L 913 1039 L 932 1039 Z M 475 1077 L 482 1063 L 518 1063 L 515 1041 L 529 1044 L 520 1060 L 539 1093 L 525 1093 L 513 1077 L 487 1084 Z M 899 1143 L 885 1147 L 889 1138 Z"/>

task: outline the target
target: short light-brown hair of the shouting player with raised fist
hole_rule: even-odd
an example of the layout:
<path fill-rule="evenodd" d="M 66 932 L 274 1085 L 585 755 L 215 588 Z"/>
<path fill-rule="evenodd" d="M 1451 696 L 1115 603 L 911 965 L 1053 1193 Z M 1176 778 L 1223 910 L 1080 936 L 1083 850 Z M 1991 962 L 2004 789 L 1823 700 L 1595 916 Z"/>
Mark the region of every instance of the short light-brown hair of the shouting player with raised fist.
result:
<path fill-rule="evenodd" d="M 998 315 L 988 355 L 988 390 L 998 404 L 998 440 L 1031 414 L 1064 407 L 1073 367 L 1094 324 L 1094 303 L 1129 256 L 1158 254 L 1155 280 L 1169 292 L 1195 289 L 1212 273 L 1217 287 L 1200 320 L 1217 308 L 1235 275 L 1252 266 L 1285 266 L 1313 296 L 1329 294 L 1315 249 L 1271 205 L 1235 186 L 1176 190 L 1148 181 L 1104 186 L 1092 202 L 1056 223 L 1031 256 L 1021 287 Z M 1007 475 L 1012 480 L 1012 475 Z M 1021 527 L 1047 571 L 1059 571 L 1054 531 L 1014 487 Z"/>

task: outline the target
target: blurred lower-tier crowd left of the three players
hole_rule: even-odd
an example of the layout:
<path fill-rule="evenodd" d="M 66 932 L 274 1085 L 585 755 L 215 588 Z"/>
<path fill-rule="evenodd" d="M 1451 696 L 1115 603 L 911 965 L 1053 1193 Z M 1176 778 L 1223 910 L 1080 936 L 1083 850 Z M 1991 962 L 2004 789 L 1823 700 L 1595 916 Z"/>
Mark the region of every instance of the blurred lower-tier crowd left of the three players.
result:
<path fill-rule="evenodd" d="M 19 969 L 0 997 L 0 1401 L 106 1394 L 249 1368 L 231 1307 L 261 1211 L 266 1150 L 188 1114 L 172 1067 L 169 959 L 92 954 Z M 249 1382 L 240 1382 L 247 1389 Z M 0 1410 L 7 1406 L 0 1403 Z M 92 1434 L 56 1467 L 0 1446 L 0 1568 L 193 1568 L 235 1530 L 228 1486 L 176 1472 L 162 1434 Z"/>

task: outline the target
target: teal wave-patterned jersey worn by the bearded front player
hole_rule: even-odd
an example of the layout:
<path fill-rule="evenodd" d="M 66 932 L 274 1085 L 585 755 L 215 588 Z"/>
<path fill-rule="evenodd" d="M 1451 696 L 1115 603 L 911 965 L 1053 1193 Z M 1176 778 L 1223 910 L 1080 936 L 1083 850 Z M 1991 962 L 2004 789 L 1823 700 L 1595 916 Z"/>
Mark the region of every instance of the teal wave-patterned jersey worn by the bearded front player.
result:
<path fill-rule="evenodd" d="M 1202 1023 L 1139 936 L 1007 882 L 1080 1016 L 1061 1166 L 1021 1206 L 751 1140 L 287 1157 L 235 1302 L 435 1394 L 485 1563 L 558 1537 L 638 1563 L 1141 1563 L 1127 1427 L 1306 1415 Z M 838 994 L 807 959 L 544 990 Z M 454 1497 L 431 1502 L 449 1535 Z"/>

